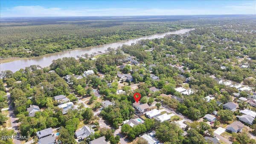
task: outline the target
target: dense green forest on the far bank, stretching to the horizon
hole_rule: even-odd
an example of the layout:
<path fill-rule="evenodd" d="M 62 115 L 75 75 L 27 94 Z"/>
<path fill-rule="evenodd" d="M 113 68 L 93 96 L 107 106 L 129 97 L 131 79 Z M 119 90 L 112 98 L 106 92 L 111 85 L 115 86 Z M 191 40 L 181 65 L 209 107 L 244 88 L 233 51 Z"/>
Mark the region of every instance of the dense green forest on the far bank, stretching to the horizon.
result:
<path fill-rule="evenodd" d="M 217 24 L 216 20 L 247 20 L 250 16 L 220 17 L 67 17 L 53 19 L 1 20 L 0 58 L 24 58 L 68 49 L 98 46 L 120 40 L 174 31 L 198 25 Z M 189 21 L 188 21 L 189 20 Z M 253 24 L 253 22 L 252 22 Z"/>

